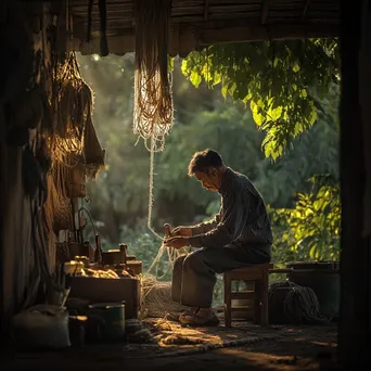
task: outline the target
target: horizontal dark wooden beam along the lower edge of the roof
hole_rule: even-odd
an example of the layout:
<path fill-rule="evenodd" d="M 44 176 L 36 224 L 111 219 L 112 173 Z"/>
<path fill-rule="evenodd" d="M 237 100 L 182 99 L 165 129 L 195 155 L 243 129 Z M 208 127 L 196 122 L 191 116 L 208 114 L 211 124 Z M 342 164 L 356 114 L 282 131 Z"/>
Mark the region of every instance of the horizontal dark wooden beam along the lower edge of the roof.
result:
<path fill-rule="evenodd" d="M 85 27 L 74 27 L 74 36 L 84 41 L 86 38 Z M 79 31 L 77 33 L 77 29 Z M 111 30 L 115 33 L 115 30 Z M 108 37 L 110 53 L 123 55 L 135 50 L 135 30 L 127 29 L 123 34 L 123 29 L 116 30 L 117 35 Z M 121 33 L 121 35 L 119 35 Z M 337 24 L 277 24 L 264 26 L 260 22 L 204 22 L 200 24 L 178 24 L 170 26 L 169 35 L 169 53 L 171 55 L 187 55 L 197 48 L 204 48 L 210 44 L 229 43 L 229 42 L 248 42 L 261 40 L 284 40 L 284 39 L 303 39 L 303 38 L 327 38 L 337 37 Z M 94 54 L 99 52 L 99 38 L 93 37 L 88 43 L 80 42 L 79 47 L 74 48 L 81 50 L 86 54 Z"/>

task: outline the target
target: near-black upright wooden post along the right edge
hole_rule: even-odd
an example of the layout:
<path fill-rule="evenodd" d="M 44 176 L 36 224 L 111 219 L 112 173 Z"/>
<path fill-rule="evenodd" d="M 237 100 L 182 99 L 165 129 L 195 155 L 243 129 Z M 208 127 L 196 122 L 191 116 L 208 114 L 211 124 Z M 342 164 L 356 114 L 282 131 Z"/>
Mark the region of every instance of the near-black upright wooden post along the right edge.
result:
<path fill-rule="evenodd" d="M 368 1 L 369 2 L 369 1 Z M 369 5 L 370 7 L 370 5 Z M 362 42 L 361 1 L 342 0 L 341 56 L 341 183 L 342 183 L 342 253 L 341 253 L 341 320 L 338 325 L 338 358 L 344 370 L 363 369 L 370 349 L 370 243 L 364 228 L 363 196 L 366 166 L 362 137 L 363 125 L 359 85 L 359 59 Z M 370 22 L 370 21 L 369 21 Z M 367 46 L 369 48 L 369 46 Z M 361 56 L 362 59 L 366 55 Z M 368 61 L 370 68 L 371 61 Z M 363 117 L 364 119 L 364 117 Z M 371 125 L 371 117 L 368 123 Z M 370 141 L 370 138 L 367 139 Z M 364 205 L 370 207 L 370 205 Z"/>

